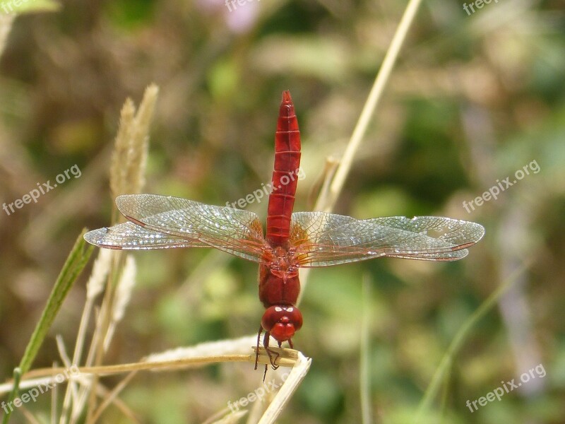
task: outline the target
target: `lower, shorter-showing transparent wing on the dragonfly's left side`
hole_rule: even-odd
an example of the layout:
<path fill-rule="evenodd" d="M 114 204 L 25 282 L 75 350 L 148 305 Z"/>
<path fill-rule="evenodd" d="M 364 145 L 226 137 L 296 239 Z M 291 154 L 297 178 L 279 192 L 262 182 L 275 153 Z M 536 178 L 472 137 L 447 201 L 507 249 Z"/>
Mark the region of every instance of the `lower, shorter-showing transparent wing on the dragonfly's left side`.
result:
<path fill-rule="evenodd" d="M 89 231 L 84 235 L 84 239 L 92 245 L 121 250 L 210 247 L 198 240 L 184 240 L 162 232 L 147 230 L 131 222 Z"/>

